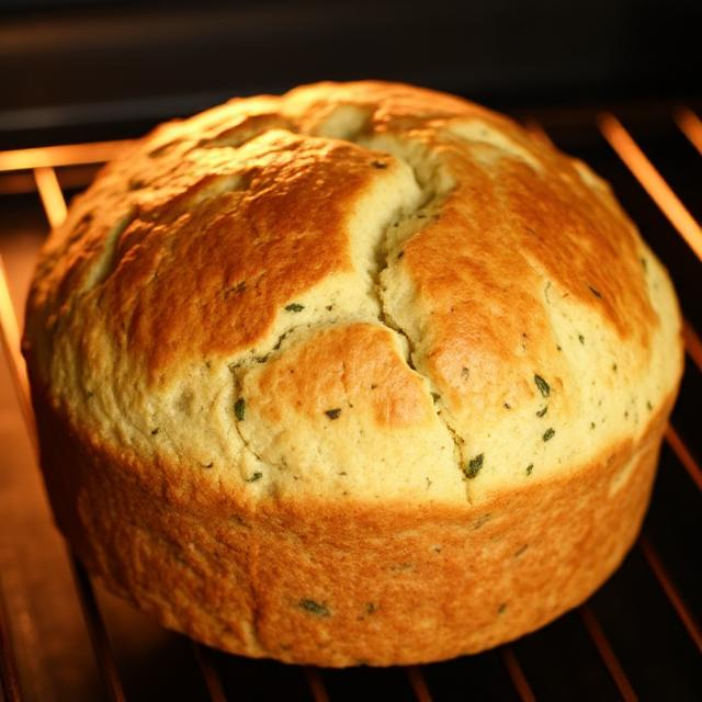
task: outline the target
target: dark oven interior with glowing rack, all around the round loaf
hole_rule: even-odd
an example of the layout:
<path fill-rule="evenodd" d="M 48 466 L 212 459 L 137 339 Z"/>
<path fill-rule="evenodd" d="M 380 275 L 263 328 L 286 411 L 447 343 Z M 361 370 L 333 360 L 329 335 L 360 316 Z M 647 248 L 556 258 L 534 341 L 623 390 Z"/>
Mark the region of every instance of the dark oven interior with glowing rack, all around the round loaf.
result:
<path fill-rule="evenodd" d="M 642 535 L 623 565 L 582 607 L 539 632 L 477 656 L 384 669 L 296 667 L 248 660 L 194 644 L 184 636 L 162 630 L 91 582 L 52 522 L 34 455 L 18 329 L 33 261 L 49 225 L 60 222 L 67 200 L 90 182 L 100 165 L 123 146 L 124 138 L 138 135 L 169 114 L 193 112 L 235 92 L 273 90 L 315 79 L 320 69 L 317 64 L 305 64 L 304 57 L 297 55 L 305 52 L 297 47 L 291 59 L 294 70 L 280 67 L 276 70 L 269 57 L 268 64 L 251 69 L 248 82 L 222 88 L 222 81 L 208 79 L 202 83 L 204 89 L 185 90 L 176 98 L 173 91 L 178 81 L 169 73 L 163 81 L 162 94 L 152 98 L 149 97 L 149 81 L 139 82 L 135 78 L 137 58 L 149 56 L 148 41 L 140 36 L 129 39 L 132 44 L 128 44 L 125 37 L 134 24 L 125 18 L 133 20 L 138 14 L 141 22 L 151 26 L 148 22 L 156 23 L 158 16 L 162 16 L 157 12 L 158 3 L 145 3 L 149 5 L 146 9 L 131 7 L 138 3 L 124 3 L 129 7 L 122 19 L 110 15 L 114 12 L 112 5 L 95 14 L 94 8 L 87 5 L 101 3 L 64 4 L 70 7 L 61 8 L 60 12 L 42 7 L 43 12 L 35 10 L 32 14 L 8 10 L 0 3 L 2 16 L 10 20 L 10 29 L 24 26 L 26 30 L 31 25 L 34 33 L 30 38 L 36 44 L 37 36 L 44 36 L 45 42 L 43 57 L 36 53 L 29 57 L 30 61 L 36 61 L 34 69 L 31 63 L 29 68 L 27 64 L 16 64 L 19 68 L 8 83 L 19 86 L 16 90 L 21 94 L 15 103 L 11 104 L 8 91 L 0 99 L 0 254 L 3 263 L 0 275 L 3 337 L 0 361 L 0 702 L 101 699 L 322 702 L 360 698 L 420 702 L 701 700 L 702 342 L 698 330 L 702 329 L 699 283 L 702 273 L 699 224 L 702 220 L 702 100 L 693 90 L 691 65 L 686 65 L 688 72 L 683 70 L 677 73 L 675 81 L 671 79 L 668 89 L 641 90 L 634 78 L 637 76 L 643 81 L 648 76 L 644 69 L 655 73 L 650 68 L 655 61 L 646 55 L 646 58 L 639 57 L 643 72 L 635 73 L 634 78 L 626 72 L 633 69 L 625 64 L 616 73 L 619 78 L 605 81 L 602 90 L 582 92 L 584 87 L 598 81 L 597 66 L 578 73 L 577 66 L 574 68 L 577 61 L 573 59 L 574 66 L 566 61 L 569 72 L 566 70 L 561 78 L 554 78 L 552 73 L 548 82 L 539 72 L 539 61 L 534 59 L 535 72 L 524 79 L 531 91 L 528 91 L 529 95 L 525 95 L 523 83 L 521 90 L 513 88 L 519 81 L 517 67 L 509 65 L 505 69 L 505 84 L 509 88 L 503 88 L 490 73 L 487 59 L 475 64 L 471 55 L 462 58 L 461 64 L 450 48 L 440 55 L 441 60 L 426 67 L 424 79 L 418 59 L 411 64 L 411 70 L 400 70 L 392 59 L 383 65 L 385 77 L 446 88 L 508 111 L 539 138 L 551 139 L 566 152 L 581 158 L 613 185 L 624 208 L 668 267 L 676 284 L 686 318 L 686 374 L 666 434 Z M 454 4 L 439 2 L 438 8 L 453 8 Z M 492 9 L 488 7 L 490 3 L 477 4 L 483 13 L 503 16 L 503 3 L 492 3 Z M 633 12 L 644 3 L 623 4 Z M 677 21 L 675 11 L 683 4 L 672 3 L 672 15 L 668 12 L 660 21 L 664 24 Z M 197 36 L 200 41 L 205 36 L 211 42 L 225 42 L 226 36 L 216 32 L 222 15 L 230 12 L 225 3 L 210 8 L 206 22 L 192 3 L 173 5 L 165 20 L 170 38 L 157 34 L 154 41 L 158 46 L 168 48 L 168 43 L 176 41 L 173 33 L 189 47 L 197 44 Z M 248 27 L 248 42 L 254 41 L 251 36 L 263 36 L 268 42 L 287 46 L 286 42 L 292 44 L 291 36 L 299 39 L 307 32 L 310 36 L 308 48 L 324 53 L 330 50 L 328 43 L 339 38 L 335 33 L 320 38 L 314 18 L 310 19 L 317 7 L 315 3 L 298 9 L 297 15 L 274 3 L 261 3 L 258 8 L 241 3 L 241 7 L 238 31 L 244 36 Z M 542 10 L 550 7 L 541 3 Z M 591 3 L 588 21 L 596 21 L 605 7 L 605 3 Z M 355 15 L 352 16 L 349 8 L 339 3 L 333 11 L 336 21 L 348 20 L 351 22 L 349 32 L 360 32 L 354 29 Z M 359 3 L 359 8 L 367 16 L 371 5 Z M 405 39 L 407 33 L 415 38 L 418 36 L 421 23 L 417 18 L 412 23 L 401 18 L 397 20 L 393 14 L 396 10 L 392 3 L 381 3 L 380 29 L 371 32 L 365 27 L 363 37 L 371 56 L 387 53 L 388 46 L 399 44 L 398 34 L 403 31 L 406 32 Z M 46 20 L 47 13 L 53 16 L 53 24 Z M 206 26 L 188 33 L 188 23 L 192 24 L 193 18 L 201 18 Z M 65 77 L 67 71 L 81 70 L 80 61 L 84 60 L 88 48 L 82 44 L 72 52 L 61 48 L 57 44 L 61 35 L 55 36 L 56 27 L 70 29 L 72 21 L 73 33 L 84 39 L 89 30 L 95 32 L 95 27 L 103 27 L 103 24 L 95 24 L 98 20 L 103 24 L 109 24 L 110 20 L 117 23 L 112 33 L 101 35 L 109 48 L 102 52 L 98 63 L 107 61 L 110 47 L 124 48 L 125 42 L 136 52 L 137 58 L 124 58 L 125 71 L 135 81 L 132 92 L 112 75 L 106 87 L 100 86 L 99 71 L 81 83 L 82 93 L 72 84 L 63 92 L 58 87 L 21 90 L 22 76 L 39 76 L 50 83 L 59 73 Z M 654 20 L 648 18 L 647 22 L 654 24 Z M 435 21 L 435 18 L 429 18 L 424 31 L 431 30 Z M 269 22 L 268 30 L 265 22 Z M 644 22 L 646 31 L 650 29 L 649 24 Z M 448 24 L 444 22 L 442 26 Z M 471 26 L 471 36 L 479 34 Z M 556 26 L 559 26 L 557 22 Z M 613 31 L 611 23 L 603 26 Z M 0 29 L 0 36 L 3 31 Z M 455 27 L 452 31 L 457 32 Z M 645 36 L 646 32 L 643 34 Z M 63 35 L 64 42 L 67 36 L 71 36 L 70 33 Z M 446 36 L 451 46 L 457 41 L 453 34 L 444 35 L 444 38 Z M 358 52 L 348 33 L 343 41 L 343 48 Z M 690 46 L 684 44 L 684 32 L 680 41 L 679 57 L 684 59 L 691 56 Z M 434 39 L 431 46 L 437 44 L 441 41 Z M 29 49 L 12 44 L 4 46 L 0 56 L 11 59 L 5 67 L 14 66 L 14 60 L 27 60 Z M 664 46 L 667 46 L 665 42 Z M 669 48 L 672 50 L 672 45 Z M 553 50 L 553 39 L 550 39 L 541 60 L 551 61 L 548 52 Z M 510 60 L 514 52 L 506 54 Z M 57 65 L 52 66 L 47 56 L 57 57 Z M 177 67 L 173 70 L 185 71 L 181 66 L 185 60 L 183 56 L 178 52 L 171 56 L 174 57 L 172 65 Z M 284 61 L 285 57 L 279 52 L 278 58 Z M 373 75 L 363 63 L 367 60 L 360 59 L 362 70 L 347 70 L 347 75 L 340 59 L 330 59 L 329 72 L 336 78 Z M 672 72 L 666 63 L 671 59 L 666 55 L 660 60 L 663 64 L 658 67 L 663 66 L 660 70 L 665 78 Z M 157 57 L 157 67 L 162 70 L 162 61 L 159 61 L 161 59 Z M 454 61 L 453 71 L 442 72 L 441 67 L 451 61 Z M 464 76 L 471 70 L 473 73 L 462 80 L 462 70 Z M 438 78 L 440 73 L 442 77 Z M 196 76 L 190 77 L 186 71 L 180 78 L 184 84 L 196 82 Z M 553 86 L 555 89 L 552 90 Z M 229 91 L 226 95 L 225 90 Z M 113 98 L 105 101 L 107 94 Z"/>

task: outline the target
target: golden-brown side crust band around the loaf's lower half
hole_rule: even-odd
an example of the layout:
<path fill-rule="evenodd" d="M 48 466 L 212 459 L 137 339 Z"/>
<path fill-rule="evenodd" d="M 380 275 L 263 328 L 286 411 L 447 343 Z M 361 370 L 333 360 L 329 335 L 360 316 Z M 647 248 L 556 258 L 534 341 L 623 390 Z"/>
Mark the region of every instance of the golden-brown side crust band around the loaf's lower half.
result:
<path fill-rule="evenodd" d="M 37 407 L 58 523 L 107 587 L 233 653 L 349 666 L 476 653 L 585 600 L 638 532 L 673 397 L 637 445 L 464 509 L 161 495 Z"/>

